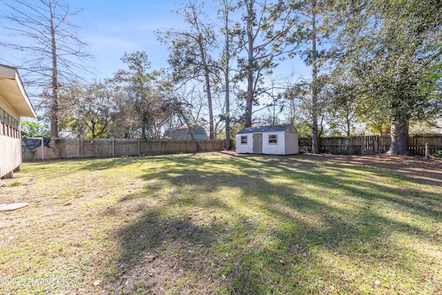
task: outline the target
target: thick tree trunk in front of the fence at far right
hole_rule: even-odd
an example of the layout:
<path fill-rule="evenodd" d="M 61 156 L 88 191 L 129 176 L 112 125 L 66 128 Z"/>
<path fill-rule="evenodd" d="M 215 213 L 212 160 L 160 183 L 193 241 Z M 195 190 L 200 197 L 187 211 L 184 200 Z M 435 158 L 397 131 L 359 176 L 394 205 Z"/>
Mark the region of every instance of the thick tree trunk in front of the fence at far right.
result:
<path fill-rule="evenodd" d="M 392 144 L 388 155 L 410 155 L 408 149 L 409 122 L 400 115 L 392 117 Z"/>

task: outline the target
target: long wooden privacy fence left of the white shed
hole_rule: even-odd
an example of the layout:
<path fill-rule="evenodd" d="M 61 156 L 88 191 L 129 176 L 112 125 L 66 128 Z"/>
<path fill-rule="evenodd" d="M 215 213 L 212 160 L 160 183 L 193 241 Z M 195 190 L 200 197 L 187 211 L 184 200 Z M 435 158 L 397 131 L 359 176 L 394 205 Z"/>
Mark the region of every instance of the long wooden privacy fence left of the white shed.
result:
<path fill-rule="evenodd" d="M 222 151 L 225 140 L 198 140 L 202 151 Z M 39 146 L 27 151 L 22 148 L 23 161 L 69 158 L 111 158 L 137 155 L 194 153 L 195 140 L 142 140 L 126 138 L 52 138 L 50 147 Z"/>

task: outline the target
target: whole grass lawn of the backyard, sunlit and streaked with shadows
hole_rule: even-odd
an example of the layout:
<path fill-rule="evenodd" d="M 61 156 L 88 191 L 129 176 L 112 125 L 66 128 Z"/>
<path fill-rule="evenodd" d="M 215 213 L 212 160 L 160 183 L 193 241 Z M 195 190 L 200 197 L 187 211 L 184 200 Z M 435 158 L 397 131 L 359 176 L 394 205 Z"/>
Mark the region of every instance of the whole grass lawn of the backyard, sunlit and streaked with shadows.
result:
<path fill-rule="evenodd" d="M 0 294 L 442 294 L 442 161 L 198 153 L 30 162 Z"/>

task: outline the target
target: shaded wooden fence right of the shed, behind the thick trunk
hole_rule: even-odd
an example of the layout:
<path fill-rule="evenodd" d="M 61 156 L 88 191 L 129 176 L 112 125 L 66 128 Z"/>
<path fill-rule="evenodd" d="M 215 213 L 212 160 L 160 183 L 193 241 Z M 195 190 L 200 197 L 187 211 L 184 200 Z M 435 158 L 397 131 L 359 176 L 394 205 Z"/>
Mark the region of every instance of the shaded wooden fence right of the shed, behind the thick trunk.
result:
<path fill-rule="evenodd" d="M 385 153 L 390 150 L 390 135 L 354 136 L 354 137 L 320 137 L 319 149 L 322 153 L 334 155 L 369 155 Z M 430 147 L 430 154 L 442 150 L 442 135 L 414 135 L 408 139 L 408 149 L 415 155 L 425 155 L 425 144 Z M 311 138 L 299 139 L 300 151 L 311 151 Z"/>

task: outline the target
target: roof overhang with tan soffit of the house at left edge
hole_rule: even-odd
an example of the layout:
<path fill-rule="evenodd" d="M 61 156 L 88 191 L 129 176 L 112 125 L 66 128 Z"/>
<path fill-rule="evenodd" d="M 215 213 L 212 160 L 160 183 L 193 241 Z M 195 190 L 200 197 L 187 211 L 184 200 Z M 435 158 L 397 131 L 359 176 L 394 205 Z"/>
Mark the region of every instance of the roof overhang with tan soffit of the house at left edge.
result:
<path fill-rule="evenodd" d="M 23 88 L 17 68 L 0 64 L 0 96 L 21 117 L 37 117 Z"/>

